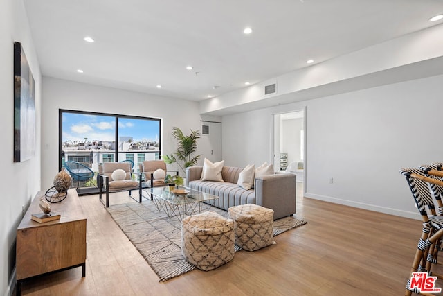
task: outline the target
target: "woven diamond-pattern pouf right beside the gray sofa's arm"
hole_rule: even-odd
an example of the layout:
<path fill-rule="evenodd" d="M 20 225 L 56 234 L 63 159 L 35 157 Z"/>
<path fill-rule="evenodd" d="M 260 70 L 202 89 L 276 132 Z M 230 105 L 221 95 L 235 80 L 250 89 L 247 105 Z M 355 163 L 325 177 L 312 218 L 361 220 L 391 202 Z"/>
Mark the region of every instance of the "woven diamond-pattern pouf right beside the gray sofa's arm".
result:
<path fill-rule="evenodd" d="M 274 211 L 257 204 L 243 204 L 228 209 L 234 220 L 235 245 L 255 251 L 274 243 Z"/>

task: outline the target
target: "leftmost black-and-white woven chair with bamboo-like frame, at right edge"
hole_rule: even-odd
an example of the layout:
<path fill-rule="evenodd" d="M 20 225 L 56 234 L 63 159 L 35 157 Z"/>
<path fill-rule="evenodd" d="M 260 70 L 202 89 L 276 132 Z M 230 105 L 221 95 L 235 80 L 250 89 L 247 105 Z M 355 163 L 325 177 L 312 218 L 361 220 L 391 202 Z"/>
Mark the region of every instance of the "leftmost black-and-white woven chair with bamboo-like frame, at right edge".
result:
<path fill-rule="evenodd" d="M 400 173 L 406 177 L 423 222 L 422 236 L 419 238 L 410 277 L 406 284 L 405 295 L 411 295 L 412 292 L 417 294 L 420 292 L 417 288 L 410 288 L 410 278 L 413 272 L 428 272 L 431 275 L 431 267 L 435 263 L 433 258 L 435 245 L 443 236 L 443 216 L 437 216 L 435 212 L 434 199 L 429 186 L 429 184 L 443 186 L 443 182 L 426 177 L 424 171 L 418 168 L 401 168 Z M 440 275 L 434 276 L 443 278 Z"/>

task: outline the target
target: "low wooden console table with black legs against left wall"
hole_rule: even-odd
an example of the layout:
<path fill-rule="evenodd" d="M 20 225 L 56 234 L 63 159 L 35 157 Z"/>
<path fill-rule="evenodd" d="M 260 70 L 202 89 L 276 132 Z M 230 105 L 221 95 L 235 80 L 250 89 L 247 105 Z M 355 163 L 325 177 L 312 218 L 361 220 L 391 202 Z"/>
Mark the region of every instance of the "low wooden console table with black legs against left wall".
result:
<path fill-rule="evenodd" d="M 37 223 L 31 214 L 40 213 L 39 191 L 17 228 L 17 295 L 21 283 L 31 277 L 82 267 L 86 268 L 86 216 L 82 212 L 75 189 L 69 189 L 66 198 L 51 204 L 51 211 L 60 214 L 60 220 Z"/>

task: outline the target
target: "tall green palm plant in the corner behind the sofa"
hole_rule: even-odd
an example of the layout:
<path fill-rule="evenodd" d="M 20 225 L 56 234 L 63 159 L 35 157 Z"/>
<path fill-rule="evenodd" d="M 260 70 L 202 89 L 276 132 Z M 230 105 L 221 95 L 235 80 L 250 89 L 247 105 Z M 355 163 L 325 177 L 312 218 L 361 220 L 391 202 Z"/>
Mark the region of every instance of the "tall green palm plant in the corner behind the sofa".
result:
<path fill-rule="evenodd" d="M 186 173 L 188 166 L 194 166 L 201 155 L 193 154 L 197 151 L 197 142 L 200 139 L 199 130 L 191 130 L 189 135 L 183 134 L 180 128 L 172 128 L 172 137 L 177 140 L 177 150 L 171 155 L 163 155 L 163 160 L 167 164 L 177 164 L 183 173 Z"/>

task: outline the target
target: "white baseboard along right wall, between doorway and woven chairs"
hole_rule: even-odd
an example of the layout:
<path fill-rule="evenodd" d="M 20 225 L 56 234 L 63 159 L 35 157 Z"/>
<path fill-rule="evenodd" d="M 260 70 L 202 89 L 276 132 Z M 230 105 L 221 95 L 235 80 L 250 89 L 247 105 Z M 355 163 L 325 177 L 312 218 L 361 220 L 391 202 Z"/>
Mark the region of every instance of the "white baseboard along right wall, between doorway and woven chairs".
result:
<path fill-rule="evenodd" d="M 383 213 L 383 214 L 390 214 L 390 215 L 400 216 L 400 217 L 404 217 L 404 218 L 422 220 L 422 216 L 420 216 L 418 213 L 414 213 L 412 211 L 401 211 L 399 209 L 380 207 L 380 206 L 375 206 L 374 204 L 365 204 L 364 202 L 354 202 L 352 200 L 342 200 L 340 198 L 332 198 L 330 196 L 319 195 L 319 194 L 314 194 L 314 193 L 309 193 L 309 192 L 305 193 L 305 197 L 312 198 L 314 200 L 323 200 L 325 202 L 332 202 L 334 204 L 343 204 L 345 206 L 356 207 L 359 209 L 367 209 L 369 211 L 377 211 L 377 212 Z"/>

